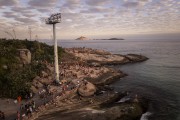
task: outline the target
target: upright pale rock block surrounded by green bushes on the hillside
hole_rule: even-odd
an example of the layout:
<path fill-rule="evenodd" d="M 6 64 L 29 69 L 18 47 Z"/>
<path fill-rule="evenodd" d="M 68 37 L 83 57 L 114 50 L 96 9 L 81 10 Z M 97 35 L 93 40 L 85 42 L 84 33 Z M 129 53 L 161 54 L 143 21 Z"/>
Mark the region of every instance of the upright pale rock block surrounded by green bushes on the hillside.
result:
<path fill-rule="evenodd" d="M 23 65 L 31 63 L 31 52 L 28 49 L 18 49 L 18 52 Z"/>

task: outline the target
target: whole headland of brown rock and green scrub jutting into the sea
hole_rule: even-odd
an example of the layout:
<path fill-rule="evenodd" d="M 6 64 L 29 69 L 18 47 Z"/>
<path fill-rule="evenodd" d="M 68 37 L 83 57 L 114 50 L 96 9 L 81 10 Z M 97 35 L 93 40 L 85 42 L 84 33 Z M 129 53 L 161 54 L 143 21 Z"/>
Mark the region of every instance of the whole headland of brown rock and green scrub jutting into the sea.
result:
<path fill-rule="evenodd" d="M 115 80 L 127 75 L 108 65 L 142 62 L 148 59 L 145 56 L 136 54 L 117 55 L 91 48 L 65 49 L 59 47 L 61 85 L 57 85 L 53 78 L 53 46 L 37 41 L 1 40 L 1 43 L 1 45 L 5 45 L 4 47 L 1 46 L 1 81 L 15 79 L 14 72 L 25 76 L 25 78 L 23 77 L 24 81 L 22 78 L 16 78 L 15 82 L 17 83 L 13 84 L 16 91 L 13 91 L 13 95 L 9 94 L 10 92 L 1 93 L 2 98 L 13 98 L 0 99 L 0 110 L 5 113 L 7 119 L 16 117 L 19 104 L 15 104 L 13 101 L 18 96 L 23 98 L 22 106 L 32 100 L 36 102 L 34 112 L 30 115 L 24 109 L 21 111 L 21 117 L 25 120 L 48 118 L 61 118 L 62 120 L 136 120 L 146 112 L 147 104 L 141 96 L 132 95 L 129 91 L 118 93 L 108 86 Z M 18 46 L 13 48 L 12 44 L 17 45 L 17 43 Z M 20 59 L 19 49 L 29 50 L 31 53 L 30 63 L 23 62 L 26 60 L 25 57 L 29 57 L 29 54 L 24 53 L 24 59 Z M 3 54 L 12 51 L 14 52 L 9 55 L 17 59 L 8 64 L 8 55 L 3 56 Z M 12 67 L 14 65 L 15 68 Z M 27 77 L 28 75 L 29 77 Z M 18 85 L 20 84 L 19 81 L 23 83 L 21 83 L 21 87 Z M 7 86 L 8 83 L 4 84 L 0 82 L 1 86 Z M 7 89 L 4 86 L 1 87 L 0 91 Z M 25 91 L 22 92 L 23 90 Z M 30 93 L 33 95 L 31 96 Z M 26 96 L 29 94 L 30 96 L 27 98 Z"/>

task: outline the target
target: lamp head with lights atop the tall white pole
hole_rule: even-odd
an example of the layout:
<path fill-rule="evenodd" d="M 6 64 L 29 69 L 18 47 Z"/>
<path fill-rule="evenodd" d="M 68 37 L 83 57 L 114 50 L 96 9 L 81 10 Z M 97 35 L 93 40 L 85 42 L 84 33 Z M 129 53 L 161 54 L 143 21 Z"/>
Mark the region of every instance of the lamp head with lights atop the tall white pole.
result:
<path fill-rule="evenodd" d="M 61 22 L 61 13 L 52 14 L 45 20 L 46 24 L 56 24 Z"/>

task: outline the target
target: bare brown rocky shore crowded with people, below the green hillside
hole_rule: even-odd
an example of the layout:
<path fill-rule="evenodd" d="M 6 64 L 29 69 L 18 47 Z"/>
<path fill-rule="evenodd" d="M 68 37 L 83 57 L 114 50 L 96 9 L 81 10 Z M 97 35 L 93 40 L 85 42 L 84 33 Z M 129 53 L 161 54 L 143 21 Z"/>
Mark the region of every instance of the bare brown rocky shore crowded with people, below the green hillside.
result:
<path fill-rule="evenodd" d="M 54 84 L 53 64 L 46 63 L 48 69 L 34 78 L 31 87 L 36 109 L 31 117 L 23 119 L 135 120 L 146 111 L 140 96 L 127 91 L 117 93 L 108 86 L 126 74 L 107 65 L 142 62 L 147 57 L 91 48 L 67 48 L 65 52 L 71 58 L 62 58 L 59 65 L 61 85 Z M 12 118 L 13 113 L 5 112 L 7 118 Z"/>

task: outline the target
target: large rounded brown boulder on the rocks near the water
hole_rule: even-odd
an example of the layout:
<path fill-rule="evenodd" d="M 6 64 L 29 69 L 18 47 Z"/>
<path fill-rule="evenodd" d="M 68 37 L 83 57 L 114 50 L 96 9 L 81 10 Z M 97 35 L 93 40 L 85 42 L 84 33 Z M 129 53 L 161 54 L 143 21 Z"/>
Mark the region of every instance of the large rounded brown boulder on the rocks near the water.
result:
<path fill-rule="evenodd" d="M 96 87 L 90 82 L 84 82 L 78 88 L 78 93 L 83 97 L 92 96 L 95 92 Z"/>

